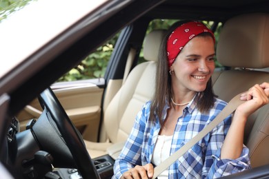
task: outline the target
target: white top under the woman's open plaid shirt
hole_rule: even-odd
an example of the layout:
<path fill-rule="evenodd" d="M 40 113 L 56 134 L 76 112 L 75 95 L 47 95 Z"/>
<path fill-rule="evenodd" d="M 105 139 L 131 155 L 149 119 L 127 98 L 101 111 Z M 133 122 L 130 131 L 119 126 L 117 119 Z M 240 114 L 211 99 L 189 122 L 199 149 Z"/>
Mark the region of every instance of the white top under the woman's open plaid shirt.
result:
<path fill-rule="evenodd" d="M 170 148 L 172 143 L 173 136 L 158 136 L 155 149 L 152 154 L 152 163 L 154 165 L 160 165 L 163 160 L 166 160 L 170 156 Z M 163 171 L 159 176 L 158 179 L 168 178 L 168 169 Z"/>

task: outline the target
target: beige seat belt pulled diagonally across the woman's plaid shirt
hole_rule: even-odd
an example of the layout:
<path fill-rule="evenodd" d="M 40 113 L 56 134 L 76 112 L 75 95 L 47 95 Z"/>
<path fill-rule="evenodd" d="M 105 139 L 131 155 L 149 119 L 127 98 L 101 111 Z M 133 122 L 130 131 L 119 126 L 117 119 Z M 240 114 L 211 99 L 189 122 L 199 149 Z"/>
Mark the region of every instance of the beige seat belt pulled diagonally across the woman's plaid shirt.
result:
<path fill-rule="evenodd" d="M 214 127 L 216 127 L 224 118 L 227 118 L 232 112 L 237 109 L 237 106 L 239 106 L 244 101 L 240 100 L 240 95 L 237 94 L 234 98 L 230 100 L 230 102 L 226 105 L 226 107 L 223 108 L 223 110 L 217 115 L 217 117 L 211 121 L 205 128 L 203 128 L 199 133 L 193 137 L 191 140 L 188 141 L 185 145 L 183 145 L 180 149 L 178 149 L 174 154 L 166 158 L 163 162 L 161 162 L 160 165 L 155 167 L 154 169 L 154 175 L 152 179 L 157 178 L 159 174 L 161 174 L 164 170 L 166 170 L 170 165 L 172 165 L 173 162 L 175 162 L 180 156 L 186 153 L 188 149 L 190 149 L 193 145 L 199 142 L 201 138 L 206 136 Z"/>

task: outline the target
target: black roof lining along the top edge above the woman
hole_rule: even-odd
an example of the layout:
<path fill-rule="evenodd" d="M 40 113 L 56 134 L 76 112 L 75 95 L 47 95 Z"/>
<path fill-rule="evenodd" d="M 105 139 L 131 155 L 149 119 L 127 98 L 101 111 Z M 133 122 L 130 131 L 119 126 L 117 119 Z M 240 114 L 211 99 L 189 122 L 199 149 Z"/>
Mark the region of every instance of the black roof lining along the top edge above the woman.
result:
<path fill-rule="evenodd" d="M 168 0 L 150 11 L 148 16 L 168 19 L 226 21 L 238 14 L 268 12 L 268 6 L 269 2 L 266 0 Z"/>

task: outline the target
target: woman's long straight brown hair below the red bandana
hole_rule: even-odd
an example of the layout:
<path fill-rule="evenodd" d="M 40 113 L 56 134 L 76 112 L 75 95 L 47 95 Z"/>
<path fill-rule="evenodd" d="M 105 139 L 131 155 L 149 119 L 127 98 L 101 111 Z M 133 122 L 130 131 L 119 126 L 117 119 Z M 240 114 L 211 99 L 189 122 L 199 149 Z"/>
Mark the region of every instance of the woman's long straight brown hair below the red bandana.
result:
<path fill-rule="evenodd" d="M 163 117 L 163 109 L 166 105 L 166 101 L 168 101 L 169 105 L 172 106 L 172 83 L 171 76 L 168 70 L 168 57 L 166 52 L 166 42 L 170 34 L 181 24 L 187 23 L 188 21 L 179 21 L 174 23 L 171 28 L 164 36 L 163 41 L 161 43 L 161 48 L 159 51 L 159 59 L 157 61 L 157 71 L 156 71 L 156 79 L 155 79 L 155 95 L 152 98 L 152 104 L 150 106 L 150 120 L 157 120 L 159 118 L 159 122 L 163 125 L 162 117 Z M 199 34 L 198 36 L 211 36 L 210 33 L 204 32 Z M 208 81 L 206 85 L 206 89 L 200 93 L 200 100 L 197 104 L 197 107 L 200 112 L 207 112 L 210 107 L 214 105 L 214 100 L 216 95 L 212 90 L 212 79 Z"/>

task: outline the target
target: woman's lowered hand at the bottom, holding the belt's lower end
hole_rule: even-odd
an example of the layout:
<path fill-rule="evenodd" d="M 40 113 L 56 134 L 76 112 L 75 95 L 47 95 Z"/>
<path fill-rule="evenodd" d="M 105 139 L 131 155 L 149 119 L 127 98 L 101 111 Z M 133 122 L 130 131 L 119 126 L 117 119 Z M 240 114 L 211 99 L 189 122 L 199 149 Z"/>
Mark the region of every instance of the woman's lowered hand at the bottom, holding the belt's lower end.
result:
<path fill-rule="evenodd" d="M 128 178 L 152 178 L 153 176 L 153 165 L 151 163 L 140 166 L 137 165 L 135 168 L 129 169 L 128 171 L 124 172 L 121 176 L 121 179 L 128 179 Z"/>

